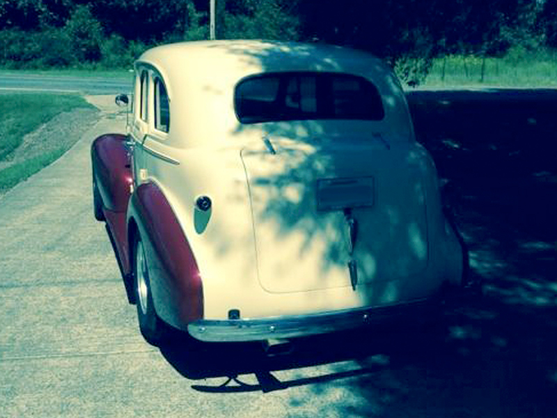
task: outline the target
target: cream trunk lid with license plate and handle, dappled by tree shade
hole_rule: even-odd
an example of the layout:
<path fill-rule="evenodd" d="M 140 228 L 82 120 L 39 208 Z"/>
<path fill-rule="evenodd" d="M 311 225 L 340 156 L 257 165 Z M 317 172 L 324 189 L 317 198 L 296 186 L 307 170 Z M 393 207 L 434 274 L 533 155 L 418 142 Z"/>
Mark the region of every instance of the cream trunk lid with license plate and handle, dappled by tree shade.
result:
<path fill-rule="evenodd" d="M 275 138 L 241 155 L 266 291 L 356 290 L 425 269 L 425 186 L 410 144 Z"/>

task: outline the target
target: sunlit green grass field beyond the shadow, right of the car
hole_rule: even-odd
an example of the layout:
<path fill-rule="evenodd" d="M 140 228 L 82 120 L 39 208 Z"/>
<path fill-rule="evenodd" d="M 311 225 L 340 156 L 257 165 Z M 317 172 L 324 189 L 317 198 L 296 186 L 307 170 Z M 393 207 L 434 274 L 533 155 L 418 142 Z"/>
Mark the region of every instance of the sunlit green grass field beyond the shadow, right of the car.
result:
<path fill-rule="evenodd" d="M 482 70 L 483 68 L 483 70 Z M 482 75 L 483 72 L 483 75 Z M 446 56 L 434 59 L 425 87 L 557 87 L 557 54 L 510 53 L 503 58 Z"/>

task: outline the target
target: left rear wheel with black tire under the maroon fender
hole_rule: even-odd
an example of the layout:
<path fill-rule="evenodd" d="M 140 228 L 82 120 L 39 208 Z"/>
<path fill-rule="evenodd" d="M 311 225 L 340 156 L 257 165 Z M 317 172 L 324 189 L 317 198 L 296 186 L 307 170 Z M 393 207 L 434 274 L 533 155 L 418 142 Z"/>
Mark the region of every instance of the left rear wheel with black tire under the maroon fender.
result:
<path fill-rule="evenodd" d="M 148 265 L 139 232 L 134 240 L 133 279 L 139 330 L 148 343 L 158 347 L 166 340 L 166 324 L 157 316 L 152 302 Z"/>

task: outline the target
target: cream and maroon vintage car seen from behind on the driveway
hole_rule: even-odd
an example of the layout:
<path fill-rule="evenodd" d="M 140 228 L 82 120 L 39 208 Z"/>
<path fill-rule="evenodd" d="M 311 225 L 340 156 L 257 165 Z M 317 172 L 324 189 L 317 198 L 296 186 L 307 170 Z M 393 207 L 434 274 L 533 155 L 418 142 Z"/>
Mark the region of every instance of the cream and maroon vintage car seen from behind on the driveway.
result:
<path fill-rule="evenodd" d="M 379 59 L 182 42 L 145 52 L 134 77 L 127 134 L 92 145 L 93 206 L 148 342 L 336 332 L 466 285 L 434 164 Z"/>

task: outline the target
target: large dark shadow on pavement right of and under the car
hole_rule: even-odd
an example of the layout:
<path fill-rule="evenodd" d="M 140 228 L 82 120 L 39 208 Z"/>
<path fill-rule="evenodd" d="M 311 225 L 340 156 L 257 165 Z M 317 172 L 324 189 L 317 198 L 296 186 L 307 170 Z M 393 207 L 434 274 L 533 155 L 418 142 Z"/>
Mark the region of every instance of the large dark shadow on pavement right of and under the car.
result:
<path fill-rule="evenodd" d="M 557 417 L 557 91 L 413 92 L 409 104 L 485 296 L 447 307 L 428 328 L 300 339 L 279 357 L 254 343 L 162 348 L 189 379 L 259 375 L 237 389 L 233 380 L 194 389 L 311 385 L 318 396 L 336 381 L 362 400 L 329 405 L 339 416 Z M 352 369 L 323 376 L 269 374 L 345 360 Z"/>

